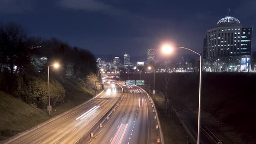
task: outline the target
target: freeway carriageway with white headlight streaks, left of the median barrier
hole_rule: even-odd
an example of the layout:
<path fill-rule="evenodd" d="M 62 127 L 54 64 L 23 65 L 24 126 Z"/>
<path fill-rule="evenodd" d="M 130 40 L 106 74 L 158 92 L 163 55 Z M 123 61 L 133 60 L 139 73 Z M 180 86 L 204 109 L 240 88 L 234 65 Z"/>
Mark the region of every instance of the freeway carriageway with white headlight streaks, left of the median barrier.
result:
<path fill-rule="evenodd" d="M 68 114 L 38 128 L 10 144 L 74 144 L 118 100 L 122 89 L 116 84 L 104 85 L 105 91 Z"/>

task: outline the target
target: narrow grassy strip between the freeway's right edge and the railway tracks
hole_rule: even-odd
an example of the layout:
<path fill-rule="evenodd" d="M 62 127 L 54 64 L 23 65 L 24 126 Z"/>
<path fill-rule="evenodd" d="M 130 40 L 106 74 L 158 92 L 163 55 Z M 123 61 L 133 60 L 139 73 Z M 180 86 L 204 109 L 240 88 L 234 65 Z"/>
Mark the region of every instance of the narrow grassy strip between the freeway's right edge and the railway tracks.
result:
<path fill-rule="evenodd" d="M 141 87 L 149 92 L 148 86 Z M 153 94 L 151 94 L 151 97 L 153 98 Z M 164 95 L 161 92 L 154 95 L 154 104 L 158 109 L 159 120 L 164 134 L 164 142 L 166 144 L 187 144 L 187 134 L 177 117 L 174 116 L 171 121 L 168 121 L 168 117 L 164 113 Z"/>

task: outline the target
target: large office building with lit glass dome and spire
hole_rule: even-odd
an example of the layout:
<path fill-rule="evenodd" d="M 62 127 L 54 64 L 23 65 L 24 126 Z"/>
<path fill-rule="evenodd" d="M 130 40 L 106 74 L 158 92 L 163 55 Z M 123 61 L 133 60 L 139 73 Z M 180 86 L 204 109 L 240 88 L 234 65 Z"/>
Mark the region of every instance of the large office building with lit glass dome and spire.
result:
<path fill-rule="evenodd" d="M 235 59 L 236 56 L 240 58 L 242 56 L 242 59 L 239 59 L 243 64 L 237 64 L 240 68 L 236 65 L 234 71 L 249 69 L 252 30 L 252 27 L 243 27 L 240 20 L 230 14 L 221 18 L 212 29 L 207 30 L 207 37 L 203 40 L 203 58 L 232 57 Z"/>

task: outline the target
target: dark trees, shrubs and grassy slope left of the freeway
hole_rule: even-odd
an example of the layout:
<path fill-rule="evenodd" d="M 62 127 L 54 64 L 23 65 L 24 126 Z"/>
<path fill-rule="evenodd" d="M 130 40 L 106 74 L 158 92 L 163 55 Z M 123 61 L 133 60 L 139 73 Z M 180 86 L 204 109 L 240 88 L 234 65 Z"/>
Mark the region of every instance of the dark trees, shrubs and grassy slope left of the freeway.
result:
<path fill-rule="evenodd" d="M 53 63 L 59 67 L 49 67 L 48 116 L 48 66 Z M 0 23 L 0 140 L 92 98 L 96 72 L 95 57 L 87 49 L 30 36 L 17 23 Z"/>

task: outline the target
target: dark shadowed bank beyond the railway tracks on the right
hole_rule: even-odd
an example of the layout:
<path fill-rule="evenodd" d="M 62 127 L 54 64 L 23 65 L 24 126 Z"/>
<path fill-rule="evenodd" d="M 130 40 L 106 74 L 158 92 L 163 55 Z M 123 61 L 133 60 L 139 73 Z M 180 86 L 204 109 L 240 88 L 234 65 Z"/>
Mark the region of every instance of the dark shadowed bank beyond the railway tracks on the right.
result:
<path fill-rule="evenodd" d="M 121 77 L 128 79 L 128 75 Z M 139 74 L 130 75 L 130 80 L 136 79 L 140 79 Z M 147 84 L 150 82 L 152 90 L 153 73 L 142 74 L 141 79 Z M 198 82 L 197 72 L 155 73 L 155 89 L 157 93 L 164 94 L 163 111 L 166 115 L 171 115 L 171 107 L 176 103 L 185 106 L 197 117 Z M 255 85 L 255 73 L 204 72 L 202 120 L 230 143 L 255 144 Z"/>

